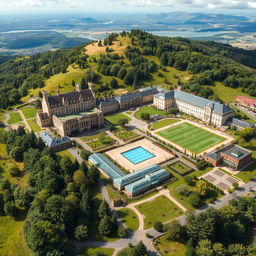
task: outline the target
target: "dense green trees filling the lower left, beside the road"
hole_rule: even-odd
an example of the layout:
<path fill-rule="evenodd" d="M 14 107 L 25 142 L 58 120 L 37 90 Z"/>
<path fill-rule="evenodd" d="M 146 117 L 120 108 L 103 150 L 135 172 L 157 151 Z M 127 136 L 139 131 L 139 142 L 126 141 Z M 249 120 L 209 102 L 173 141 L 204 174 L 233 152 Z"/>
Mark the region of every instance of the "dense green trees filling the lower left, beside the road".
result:
<path fill-rule="evenodd" d="M 126 235 L 108 204 L 102 201 L 97 209 L 92 201 L 97 169 L 58 156 L 22 127 L 1 130 L 0 143 L 12 159 L 24 163 L 28 175 L 28 186 L 20 187 L 1 176 L 5 171 L 15 177 L 17 168 L 0 170 L 0 216 L 26 216 L 24 236 L 33 255 L 73 255 L 70 243 L 86 240 L 95 228 L 103 236 Z"/>

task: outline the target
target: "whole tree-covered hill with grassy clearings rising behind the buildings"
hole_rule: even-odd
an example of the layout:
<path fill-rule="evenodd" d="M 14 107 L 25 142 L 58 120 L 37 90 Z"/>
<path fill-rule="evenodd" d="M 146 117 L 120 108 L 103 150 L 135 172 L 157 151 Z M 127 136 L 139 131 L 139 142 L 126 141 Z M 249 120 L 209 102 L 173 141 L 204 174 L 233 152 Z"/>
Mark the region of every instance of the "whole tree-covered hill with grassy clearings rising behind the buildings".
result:
<path fill-rule="evenodd" d="M 256 51 L 215 42 L 159 37 L 132 30 L 110 34 L 86 47 L 11 59 L 0 65 L 0 108 L 17 104 L 22 97 L 38 94 L 37 88 L 54 93 L 74 90 L 74 83 L 92 81 L 98 97 L 117 89 L 147 85 L 183 89 L 218 99 L 216 84 L 240 88 L 256 96 Z"/>

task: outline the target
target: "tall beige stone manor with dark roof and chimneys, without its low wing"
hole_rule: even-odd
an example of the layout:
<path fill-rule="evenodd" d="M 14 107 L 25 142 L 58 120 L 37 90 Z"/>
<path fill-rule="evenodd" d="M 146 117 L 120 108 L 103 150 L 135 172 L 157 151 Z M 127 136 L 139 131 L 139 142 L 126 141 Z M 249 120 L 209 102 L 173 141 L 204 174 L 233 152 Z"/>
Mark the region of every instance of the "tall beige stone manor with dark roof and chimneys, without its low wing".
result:
<path fill-rule="evenodd" d="M 61 136 L 70 136 L 104 123 L 103 113 L 96 108 L 96 97 L 92 84 L 82 90 L 49 96 L 43 92 L 42 111 L 37 113 L 37 123 L 41 127 L 53 126 Z"/>

